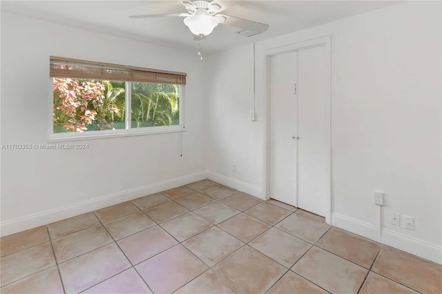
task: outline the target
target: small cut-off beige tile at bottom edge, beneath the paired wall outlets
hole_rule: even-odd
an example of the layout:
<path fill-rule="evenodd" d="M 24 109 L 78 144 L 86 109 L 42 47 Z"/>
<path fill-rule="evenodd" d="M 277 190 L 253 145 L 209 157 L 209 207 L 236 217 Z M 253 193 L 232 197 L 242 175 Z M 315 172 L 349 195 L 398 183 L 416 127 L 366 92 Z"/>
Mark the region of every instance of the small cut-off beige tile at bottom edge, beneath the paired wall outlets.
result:
<path fill-rule="evenodd" d="M 377 273 L 370 272 L 364 285 L 359 291 L 360 294 L 392 293 L 392 294 L 418 294 L 401 284 L 393 282 Z"/>

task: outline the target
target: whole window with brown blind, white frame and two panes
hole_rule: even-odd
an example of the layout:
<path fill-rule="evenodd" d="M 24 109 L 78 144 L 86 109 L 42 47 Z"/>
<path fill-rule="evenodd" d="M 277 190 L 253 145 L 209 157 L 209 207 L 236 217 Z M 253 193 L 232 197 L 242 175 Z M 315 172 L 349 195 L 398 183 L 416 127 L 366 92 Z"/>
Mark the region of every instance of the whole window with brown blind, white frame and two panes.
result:
<path fill-rule="evenodd" d="M 51 138 L 179 130 L 185 73 L 50 58 Z"/>

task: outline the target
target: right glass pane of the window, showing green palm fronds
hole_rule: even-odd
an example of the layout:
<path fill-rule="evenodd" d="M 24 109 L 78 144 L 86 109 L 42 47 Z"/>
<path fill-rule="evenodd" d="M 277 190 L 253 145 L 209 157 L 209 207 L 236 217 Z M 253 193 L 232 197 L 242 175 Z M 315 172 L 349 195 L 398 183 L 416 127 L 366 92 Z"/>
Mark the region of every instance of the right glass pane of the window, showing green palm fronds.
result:
<path fill-rule="evenodd" d="M 132 83 L 131 127 L 180 125 L 181 85 Z"/>

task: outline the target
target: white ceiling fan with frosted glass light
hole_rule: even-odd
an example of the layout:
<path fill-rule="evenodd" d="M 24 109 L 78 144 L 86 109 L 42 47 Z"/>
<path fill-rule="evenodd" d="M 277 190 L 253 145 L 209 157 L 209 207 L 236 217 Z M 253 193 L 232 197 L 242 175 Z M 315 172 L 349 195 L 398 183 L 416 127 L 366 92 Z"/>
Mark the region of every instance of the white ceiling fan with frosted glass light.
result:
<path fill-rule="evenodd" d="M 220 14 L 224 9 L 218 1 L 184 1 L 181 2 L 186 8 L 187 12 L 165 15 L 132 15 L 133 19 L 144 19 L 150 17 L 184 17 L 184 24 L 189 27 L 191 32 L 204 38 L 206 35 L 212 33 L 213 28 L 218 24 L 226 24 L 227 26 L 235 26 L 242 28 L 250 33 L 248 35 L 255 35 L 263 33 L 269 28 L 268 24 L 261 24 L 260 22 L 251 21 L 248 19 L 241 19 L 239 17 L 232 17 L 231 15 Z"/>

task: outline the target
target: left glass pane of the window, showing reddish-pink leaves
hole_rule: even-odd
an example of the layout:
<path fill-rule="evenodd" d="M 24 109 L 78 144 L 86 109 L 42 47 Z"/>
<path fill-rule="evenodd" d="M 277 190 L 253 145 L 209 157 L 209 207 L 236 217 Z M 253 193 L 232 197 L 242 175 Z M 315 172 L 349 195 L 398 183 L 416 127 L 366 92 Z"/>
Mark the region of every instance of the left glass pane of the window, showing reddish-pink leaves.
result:
<path fill-rule="evenodd" d="M 53 78 L 54 134 L 126 129 L 126 82 Z"/>

